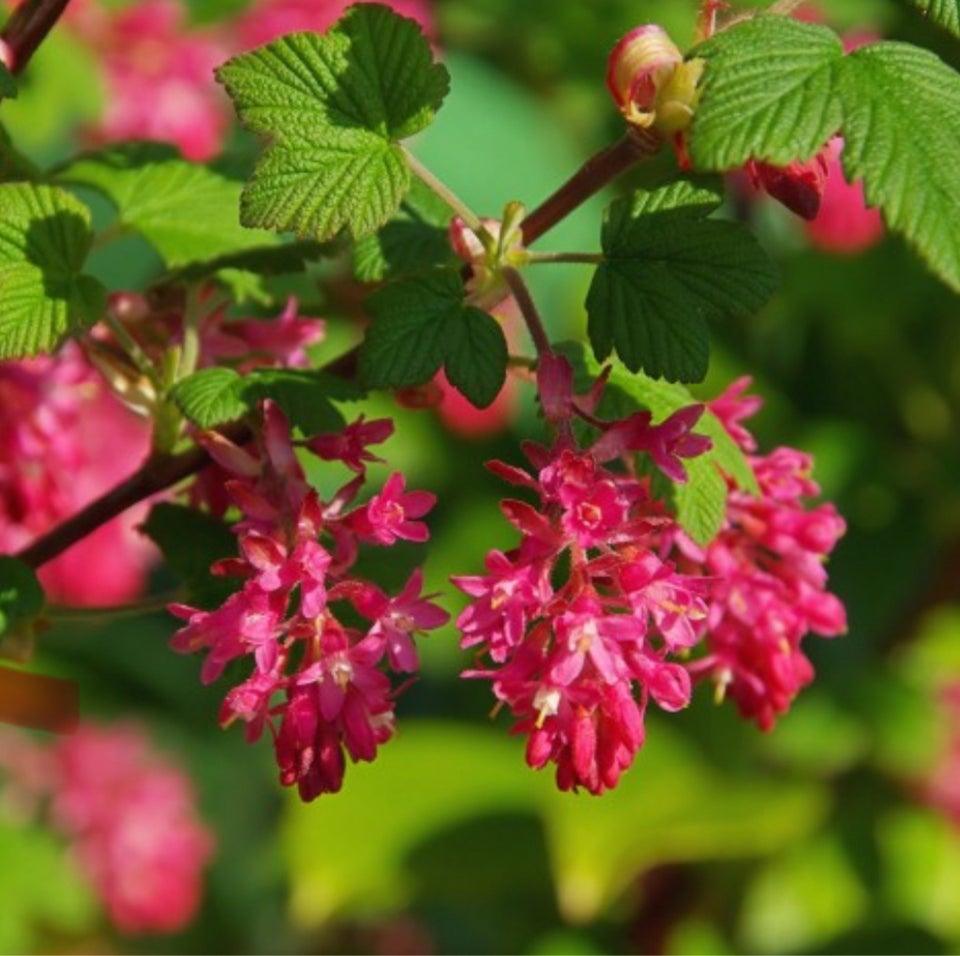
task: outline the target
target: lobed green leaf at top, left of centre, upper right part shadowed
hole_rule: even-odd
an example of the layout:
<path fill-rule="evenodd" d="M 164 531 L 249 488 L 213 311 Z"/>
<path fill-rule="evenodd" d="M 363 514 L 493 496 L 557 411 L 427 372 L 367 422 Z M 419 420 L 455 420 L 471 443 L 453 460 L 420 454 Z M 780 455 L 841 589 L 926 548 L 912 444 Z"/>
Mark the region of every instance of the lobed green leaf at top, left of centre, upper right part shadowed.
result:
<path fill-rule="evenodd" d="M 234 57 L 217 79 L 266 144 L 244 224 L 318 240 L 359 238 L 393 215 L 411 177 L 399 141 L 430 123 L 449 86 L 417 24 L 379 4 Z"/>

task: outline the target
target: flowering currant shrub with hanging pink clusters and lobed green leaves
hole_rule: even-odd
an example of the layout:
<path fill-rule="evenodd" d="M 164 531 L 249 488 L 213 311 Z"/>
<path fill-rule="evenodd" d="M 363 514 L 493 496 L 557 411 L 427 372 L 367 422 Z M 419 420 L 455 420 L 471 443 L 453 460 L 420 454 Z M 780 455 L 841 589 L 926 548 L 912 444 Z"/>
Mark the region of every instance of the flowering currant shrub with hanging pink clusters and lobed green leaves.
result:
<path fill-rule="evenodd" d="M 64 6 L 10 16 L 5 97 Z M 451 618 L 420 566 L 444 503 L 389 461 L 375 477 L 395 423 L 356 403 L 447 401 L 453 428 L 485 431 L 532 384 L 536 433 L 488 464 L 511 488 L 502 544 L 482 573 L 449 569 L 467 599 L 463 677 L 489 685 L 527 763 L 554 765 L 563 790 L 615 787 L 651 706 L 712 691 L 772 729 L 814 678 L 806 639 L 846 629 L 825 569 L 845 526 L 808 454 L 758 448 L 748 379 L 698 388 L 710 327 L 777 288 L 758 240 L 717 215 L 721 174 L 825 246 L 868 244 L 882 216 L 960 289 L 960 170 L 938 158 L 960 147 L 960 77 L 917 47 L 845 42 L 789 2 L 703 6 L 686 50 L 652 24 L 610 38 L 621 138 L 499 218 L 417 156 L 450 83 L 425 4 L 257 0 L 229 30 L 186 25 L 172 0 L 71 7 L 63 29 L 102 46 L 116 96 L 84 131 L 93 148 L 38 170 L 6 144 L 0 183 L 12 643 L 42 641 L 58 605 L 136 601 L 165 563 L 182 585 L 171 647 L 202 653 L 220 722 L 268 737 L 304 800 L 338 791 L 348 758 L 373 760 L 397 732 L 416 642 Z M 256 143 L 243 184 L 198 162 L 220 150 L 228 110 Z M 661 153 L 662 181 L 612 200 L 596 248 L 536 248 Z M 105 227 L 91 192 L 114 211 Z M 91 250 L 129 234 L 159 271 L 108 288 Z M 338 328 L 348 347 L 275 291 L 321 260 L 349 263 L 343 284 L 361 293 Z M 525 275 L 544 265 L 590 270 L 584 341 L 548 331 Z M 390 581 L 368 572 L 398 544 Z"/>

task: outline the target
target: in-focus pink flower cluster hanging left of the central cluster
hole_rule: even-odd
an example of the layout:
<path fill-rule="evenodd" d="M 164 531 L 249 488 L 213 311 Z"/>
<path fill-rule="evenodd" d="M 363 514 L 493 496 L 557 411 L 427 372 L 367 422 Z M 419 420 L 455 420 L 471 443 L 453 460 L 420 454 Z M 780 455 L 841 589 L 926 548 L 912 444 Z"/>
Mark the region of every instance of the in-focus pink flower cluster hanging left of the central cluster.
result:
<path fill-rule="evenodd" d="M 392 431 L 388 419 L 361 417 L 338 434 L 306 443 L 321 459 L 340 461 L 354 473 L 329 502 L 307 483 L 289 425 L 271 402 L 263 405 L 255 449 L 215 433 L 202 439 L 227 473 L 226 492 L 242 515 L 234 525 L 239 556 L 213 570 L 243 583 L 213 611 L 173 606 L 187 623 L 172 646 L 185 653 L 206 650 L 205 683 L 231 661 L 252 658 L 251 675 L 224 700 L 221 722 L 244 721 L 251 741 L 269 727 L 281 783 L 296 784 L 304 800 L 340 789 L 345 753 L 354 761 L 373 760 L 393 735 L 396 691 L 382 665 L 416 671 L 414 635 L 448 617 L 421 596 L 419 570 L 396 596 L 350 574 L 361 543 L 389 546 L 429 537 L 420 519 L 435 496 L 407 491 L 399 473 L 379 494 L 350 508 L 366 481 L 366 463 L 379 461 L 369 446 Z M 359 619 L 367 622 L 363 628 L 348 623 Z"/>

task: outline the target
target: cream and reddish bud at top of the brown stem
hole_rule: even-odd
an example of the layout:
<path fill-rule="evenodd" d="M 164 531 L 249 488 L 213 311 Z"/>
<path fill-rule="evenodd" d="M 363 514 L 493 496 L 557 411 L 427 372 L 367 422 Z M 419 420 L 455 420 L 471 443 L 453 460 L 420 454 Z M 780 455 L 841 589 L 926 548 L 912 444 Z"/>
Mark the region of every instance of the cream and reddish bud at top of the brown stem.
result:
<path fill-rule="evenodd" d="M 702 73 L 702 60 L 684 62 L 662 27 L 644 24 L 613 48 L 607 88 L 628 123 L 672 135 L 690 124 Z"/>

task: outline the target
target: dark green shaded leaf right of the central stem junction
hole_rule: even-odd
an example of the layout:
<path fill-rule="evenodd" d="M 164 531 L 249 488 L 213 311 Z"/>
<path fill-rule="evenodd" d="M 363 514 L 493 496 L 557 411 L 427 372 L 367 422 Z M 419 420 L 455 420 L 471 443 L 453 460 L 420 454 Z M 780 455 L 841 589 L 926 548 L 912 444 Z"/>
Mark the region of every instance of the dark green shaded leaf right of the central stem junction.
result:
<path fill-rule="evenodd" d="M 609 207 L 604 261 L 587 294 L 598 359 L 616 350 L 633 371 L 700 381 L 707 320 L 753 311 L 771 295 L 776 273 L 753 236 L 705 218 L 721 199 L 717 183 L 678 180 Z"/>

